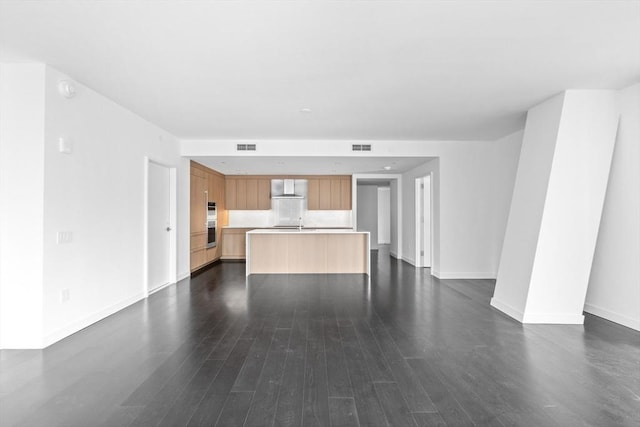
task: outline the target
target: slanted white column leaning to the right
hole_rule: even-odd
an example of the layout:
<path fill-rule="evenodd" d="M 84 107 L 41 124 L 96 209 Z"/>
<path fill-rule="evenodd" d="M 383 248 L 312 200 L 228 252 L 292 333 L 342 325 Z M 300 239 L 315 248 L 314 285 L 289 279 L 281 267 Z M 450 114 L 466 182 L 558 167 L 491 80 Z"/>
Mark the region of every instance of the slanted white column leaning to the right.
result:
<path fill-rule="evenodd" d="M 617 125 L 614 91 L 529 111 L 492 306 L 523 323 L 583 322 Z"/>

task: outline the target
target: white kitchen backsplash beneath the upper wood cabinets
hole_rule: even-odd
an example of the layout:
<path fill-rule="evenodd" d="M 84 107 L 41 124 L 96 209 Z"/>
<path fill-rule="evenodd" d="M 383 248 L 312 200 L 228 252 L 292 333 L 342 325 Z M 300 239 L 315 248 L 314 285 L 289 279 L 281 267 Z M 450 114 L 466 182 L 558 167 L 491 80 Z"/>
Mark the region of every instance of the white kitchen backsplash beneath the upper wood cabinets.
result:
<path fill-rule="evenodd" d="M 352 211 L 303 210 L 305 227 L 353 227 Z M 273 227 L 275 211 L 229 211 L 230 227 Z"/>

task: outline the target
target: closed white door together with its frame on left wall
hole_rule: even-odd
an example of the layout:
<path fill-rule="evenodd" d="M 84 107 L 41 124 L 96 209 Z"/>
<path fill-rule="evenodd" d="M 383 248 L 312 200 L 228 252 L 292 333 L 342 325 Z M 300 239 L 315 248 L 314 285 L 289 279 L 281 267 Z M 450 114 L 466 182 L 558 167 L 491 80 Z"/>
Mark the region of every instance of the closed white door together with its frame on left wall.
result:
<path fill-rule="evenodd" d="M 176 168 L 145 158 L 144 294 L 176 283 Z"/>

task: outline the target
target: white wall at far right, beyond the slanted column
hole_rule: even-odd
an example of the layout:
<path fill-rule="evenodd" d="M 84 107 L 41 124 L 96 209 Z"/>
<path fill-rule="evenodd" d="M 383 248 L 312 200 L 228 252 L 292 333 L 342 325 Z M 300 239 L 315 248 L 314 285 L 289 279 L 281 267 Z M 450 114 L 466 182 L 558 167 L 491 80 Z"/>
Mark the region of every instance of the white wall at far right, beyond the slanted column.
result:
<path fill-rule="evenodd" d="M 640 84 L 618 94 L 620 125 L 584 310 L 640 330 Z"/>

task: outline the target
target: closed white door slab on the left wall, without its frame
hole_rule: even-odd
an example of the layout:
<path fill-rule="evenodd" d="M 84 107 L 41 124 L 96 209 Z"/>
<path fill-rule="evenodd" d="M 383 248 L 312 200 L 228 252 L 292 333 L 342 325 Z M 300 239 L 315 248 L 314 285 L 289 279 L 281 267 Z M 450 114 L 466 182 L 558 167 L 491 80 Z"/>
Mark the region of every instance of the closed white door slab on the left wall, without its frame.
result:
<path fill-rule="evenodd" d="M 148 289 L 170 283 L 171 172 L 149 162 Z"/>

